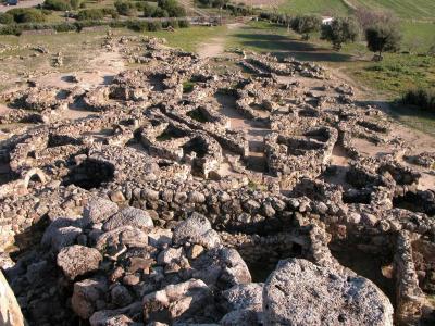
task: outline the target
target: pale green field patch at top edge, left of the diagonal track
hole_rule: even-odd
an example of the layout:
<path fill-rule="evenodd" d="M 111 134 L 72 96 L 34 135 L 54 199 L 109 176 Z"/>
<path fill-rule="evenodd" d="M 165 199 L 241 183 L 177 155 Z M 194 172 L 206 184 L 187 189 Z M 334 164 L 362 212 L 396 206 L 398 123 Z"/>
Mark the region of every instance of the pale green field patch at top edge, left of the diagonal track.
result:
<path fill-rule="evenodd" d="M 278 10 L 289 14 L 345 15 L 349 13 L 349 7 L 343 0 L 285 0 L 278 5 Z"/>

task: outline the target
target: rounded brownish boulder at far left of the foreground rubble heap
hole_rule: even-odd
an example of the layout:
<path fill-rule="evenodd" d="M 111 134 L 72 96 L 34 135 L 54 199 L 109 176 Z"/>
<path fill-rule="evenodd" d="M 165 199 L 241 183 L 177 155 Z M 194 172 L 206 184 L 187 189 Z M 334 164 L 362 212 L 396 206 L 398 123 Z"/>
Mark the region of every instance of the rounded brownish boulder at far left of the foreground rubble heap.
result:
<path fill-rule="evenodd" d="M 63 248 L 58 254 L 58 266 L 70 279 L 97 271 L 101 261 L 97 249 L 79 244 Z"/>

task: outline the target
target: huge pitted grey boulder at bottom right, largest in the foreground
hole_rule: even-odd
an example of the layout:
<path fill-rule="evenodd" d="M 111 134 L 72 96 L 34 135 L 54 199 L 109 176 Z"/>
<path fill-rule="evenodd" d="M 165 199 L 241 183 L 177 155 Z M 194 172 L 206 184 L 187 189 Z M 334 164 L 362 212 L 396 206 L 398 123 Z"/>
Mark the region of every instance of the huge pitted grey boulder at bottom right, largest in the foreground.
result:
<path fill-rule="evenodd" d="M 388 298 L 369 279 L 290 259 L 263 291 L 265 325 L 393 325 Z"/>

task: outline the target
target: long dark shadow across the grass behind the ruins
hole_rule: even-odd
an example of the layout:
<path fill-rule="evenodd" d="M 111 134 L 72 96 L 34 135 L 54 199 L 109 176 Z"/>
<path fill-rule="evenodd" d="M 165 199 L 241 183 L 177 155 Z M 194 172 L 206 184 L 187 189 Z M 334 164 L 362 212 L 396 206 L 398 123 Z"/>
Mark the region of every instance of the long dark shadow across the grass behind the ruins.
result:
<path fill-rule="evenodd" d="M 251 29 L 251 28 L 249 28 Z M 272 52 L 276 57 L 291 55 L 300 61 L 344 62 L 352 61 L 352 57 L 328 49 L 318 48 L 312 43 L 297 40 L 284 35 L 237 33 L 235 38 L 245 47 Z"/>

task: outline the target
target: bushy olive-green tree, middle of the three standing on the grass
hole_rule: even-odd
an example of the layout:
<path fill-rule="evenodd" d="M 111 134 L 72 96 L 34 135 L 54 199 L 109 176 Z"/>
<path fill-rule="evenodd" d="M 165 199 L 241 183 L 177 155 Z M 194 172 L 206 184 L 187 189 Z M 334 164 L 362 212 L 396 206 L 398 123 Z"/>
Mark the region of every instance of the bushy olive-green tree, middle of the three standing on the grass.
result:
<path fill-rule="evenodd" d="M 352 17 L 335 18 L 322 26 L 321 39 L 333 43 L 334 50 L 341 50 L 343 43 L 355 42 L 360 35 L 360 26 Z"/>

